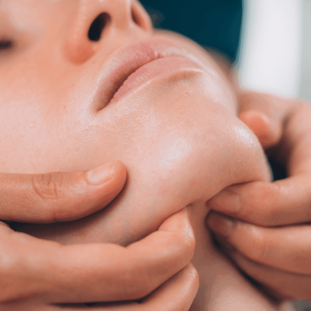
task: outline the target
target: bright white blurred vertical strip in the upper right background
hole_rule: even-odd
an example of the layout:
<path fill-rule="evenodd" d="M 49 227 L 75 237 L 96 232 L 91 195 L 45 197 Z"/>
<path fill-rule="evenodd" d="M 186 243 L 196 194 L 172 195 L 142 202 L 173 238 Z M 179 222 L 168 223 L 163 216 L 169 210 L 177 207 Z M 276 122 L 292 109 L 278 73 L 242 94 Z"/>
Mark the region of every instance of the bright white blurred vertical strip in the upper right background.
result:
<path fill-rule="evenodd" d="M 237 64 L 240 86 L 282 97 L 297 96 L 302 0 L 245 0 L 243 7 Z"/>

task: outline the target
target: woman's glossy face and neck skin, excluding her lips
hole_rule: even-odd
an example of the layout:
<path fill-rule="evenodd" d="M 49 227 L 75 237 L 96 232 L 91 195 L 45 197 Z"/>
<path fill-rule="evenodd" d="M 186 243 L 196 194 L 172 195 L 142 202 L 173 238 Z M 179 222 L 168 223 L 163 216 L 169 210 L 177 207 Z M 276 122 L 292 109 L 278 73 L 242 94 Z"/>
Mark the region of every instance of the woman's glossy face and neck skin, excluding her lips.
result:
<path fill-rule="evenodd" d="M 192 309 L 273 309 L 216 253 L 204 226 L 205 202 L 221 189 L 270 180 L 260 144 L 236 117 L 234 91 L 211 57 L 191 41 L 154 32 L 134 1 L 6 0 L 0 8 L 1 35 L 20 42 L 0 61 L 0 170 L 75 172 L 114 159 L 128 170 L 125 188 L 104 210 L 16 228 L 65 244 L 127 245 L 191 204 L 201 276 Z M 89 26 L 102 12 L 110 23 L 98 42 L 90 41 Z M 94 94 L 112 53 L 159 37 L 193 53 L 203 71 L 152 81 L 103 108 Z"/>

